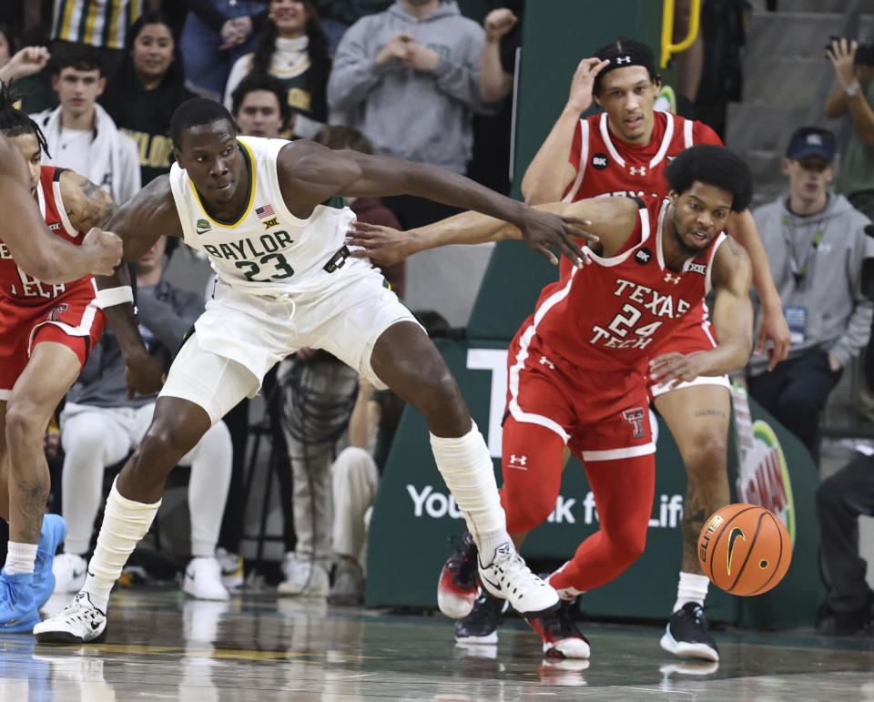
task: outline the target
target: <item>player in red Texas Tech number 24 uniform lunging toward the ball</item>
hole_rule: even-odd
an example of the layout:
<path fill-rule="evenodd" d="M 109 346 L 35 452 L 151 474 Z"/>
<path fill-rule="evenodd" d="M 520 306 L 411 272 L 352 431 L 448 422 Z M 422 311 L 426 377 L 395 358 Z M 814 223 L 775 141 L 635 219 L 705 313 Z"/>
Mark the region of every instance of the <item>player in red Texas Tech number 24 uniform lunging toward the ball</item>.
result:
<path fill-rule="evenodd" d="M 549 577 L 568 605 L 529 620 L 547 655 L 588 657 L 570 601 L 615 578 L 643 552 L 655 486 L 648 384 L 722 375 L 743 367 L 752 348 L 749 259 L 721 233 L 731 211 L 747 208 L 749 171 L 727 149 L 701 145 L 678 155 L 666 175 L 669 199 L 545 206 L 588 220 L 586 229 L 601 238 L 590 245 L 592 265 L 570 267 L 544 289 L 508 359 L 501 493 L 508 531 L 514 541 L 523 538 L 554 509 L 565 444 L 584 463 L 600 518 L 600 530 Z M 372 249 L 384 231 L 356 224 L 350 243 Z M 433 248 L 518 234 L 465 213 L 410 236 L 417 248 Z M 690 323 L 709 327 L 698 304 L 711 286 L 718 345 L 657 351 Z"/>

